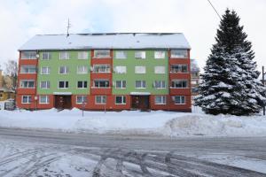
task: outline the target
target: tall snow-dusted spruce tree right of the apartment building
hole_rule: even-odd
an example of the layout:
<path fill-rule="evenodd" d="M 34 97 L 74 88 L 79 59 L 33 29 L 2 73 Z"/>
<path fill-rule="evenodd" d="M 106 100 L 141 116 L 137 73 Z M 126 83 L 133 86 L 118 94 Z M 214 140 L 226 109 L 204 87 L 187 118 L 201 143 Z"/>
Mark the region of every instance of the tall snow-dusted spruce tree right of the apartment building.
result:
<path fill-rule="evenodd" d="M 262 110 L 266 89 L 258 81 L 252 44 L 236 12 L 226 10 L 201 75 L 195 105 L 210 114 L 250 115 Z"/>

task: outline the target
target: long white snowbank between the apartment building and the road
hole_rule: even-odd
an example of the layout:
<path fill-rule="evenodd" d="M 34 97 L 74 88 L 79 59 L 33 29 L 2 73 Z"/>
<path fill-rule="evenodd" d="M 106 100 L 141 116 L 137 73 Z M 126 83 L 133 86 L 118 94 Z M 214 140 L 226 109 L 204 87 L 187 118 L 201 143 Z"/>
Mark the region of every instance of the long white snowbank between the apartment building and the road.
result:
<path fill-rule="evenodd" d="M 121 135 L 266 135 L 266 117 L 211 116 L 183 112 L 84 112 L 73 109 L 1 111 L 0 127 L 51 129 L 65 132 Z"/>

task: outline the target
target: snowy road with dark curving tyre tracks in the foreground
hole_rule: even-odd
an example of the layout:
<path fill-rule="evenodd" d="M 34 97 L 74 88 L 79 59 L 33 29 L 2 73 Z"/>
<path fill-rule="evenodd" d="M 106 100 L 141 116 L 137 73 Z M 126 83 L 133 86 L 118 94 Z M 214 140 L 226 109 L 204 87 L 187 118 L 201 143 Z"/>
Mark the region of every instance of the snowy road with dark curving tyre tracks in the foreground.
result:
<path fill-rule="evenodd" d="M 0 141 L 0 176 L 266 176 L 266 137 L 168 139 L 0 128 Z"/>

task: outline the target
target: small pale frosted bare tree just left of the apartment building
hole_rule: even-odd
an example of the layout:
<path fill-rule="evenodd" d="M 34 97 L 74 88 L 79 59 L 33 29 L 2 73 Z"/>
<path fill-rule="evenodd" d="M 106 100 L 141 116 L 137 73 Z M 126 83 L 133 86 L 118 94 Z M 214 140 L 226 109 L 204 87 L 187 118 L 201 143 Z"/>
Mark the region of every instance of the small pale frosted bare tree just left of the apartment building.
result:
<path fill-rule="evenodd" d="M 15 60 L 8 60 L 4 65 L 4 73 L 12 78 L 13 89 L 16 89 L 18 79 L 18 63 Z"/>

